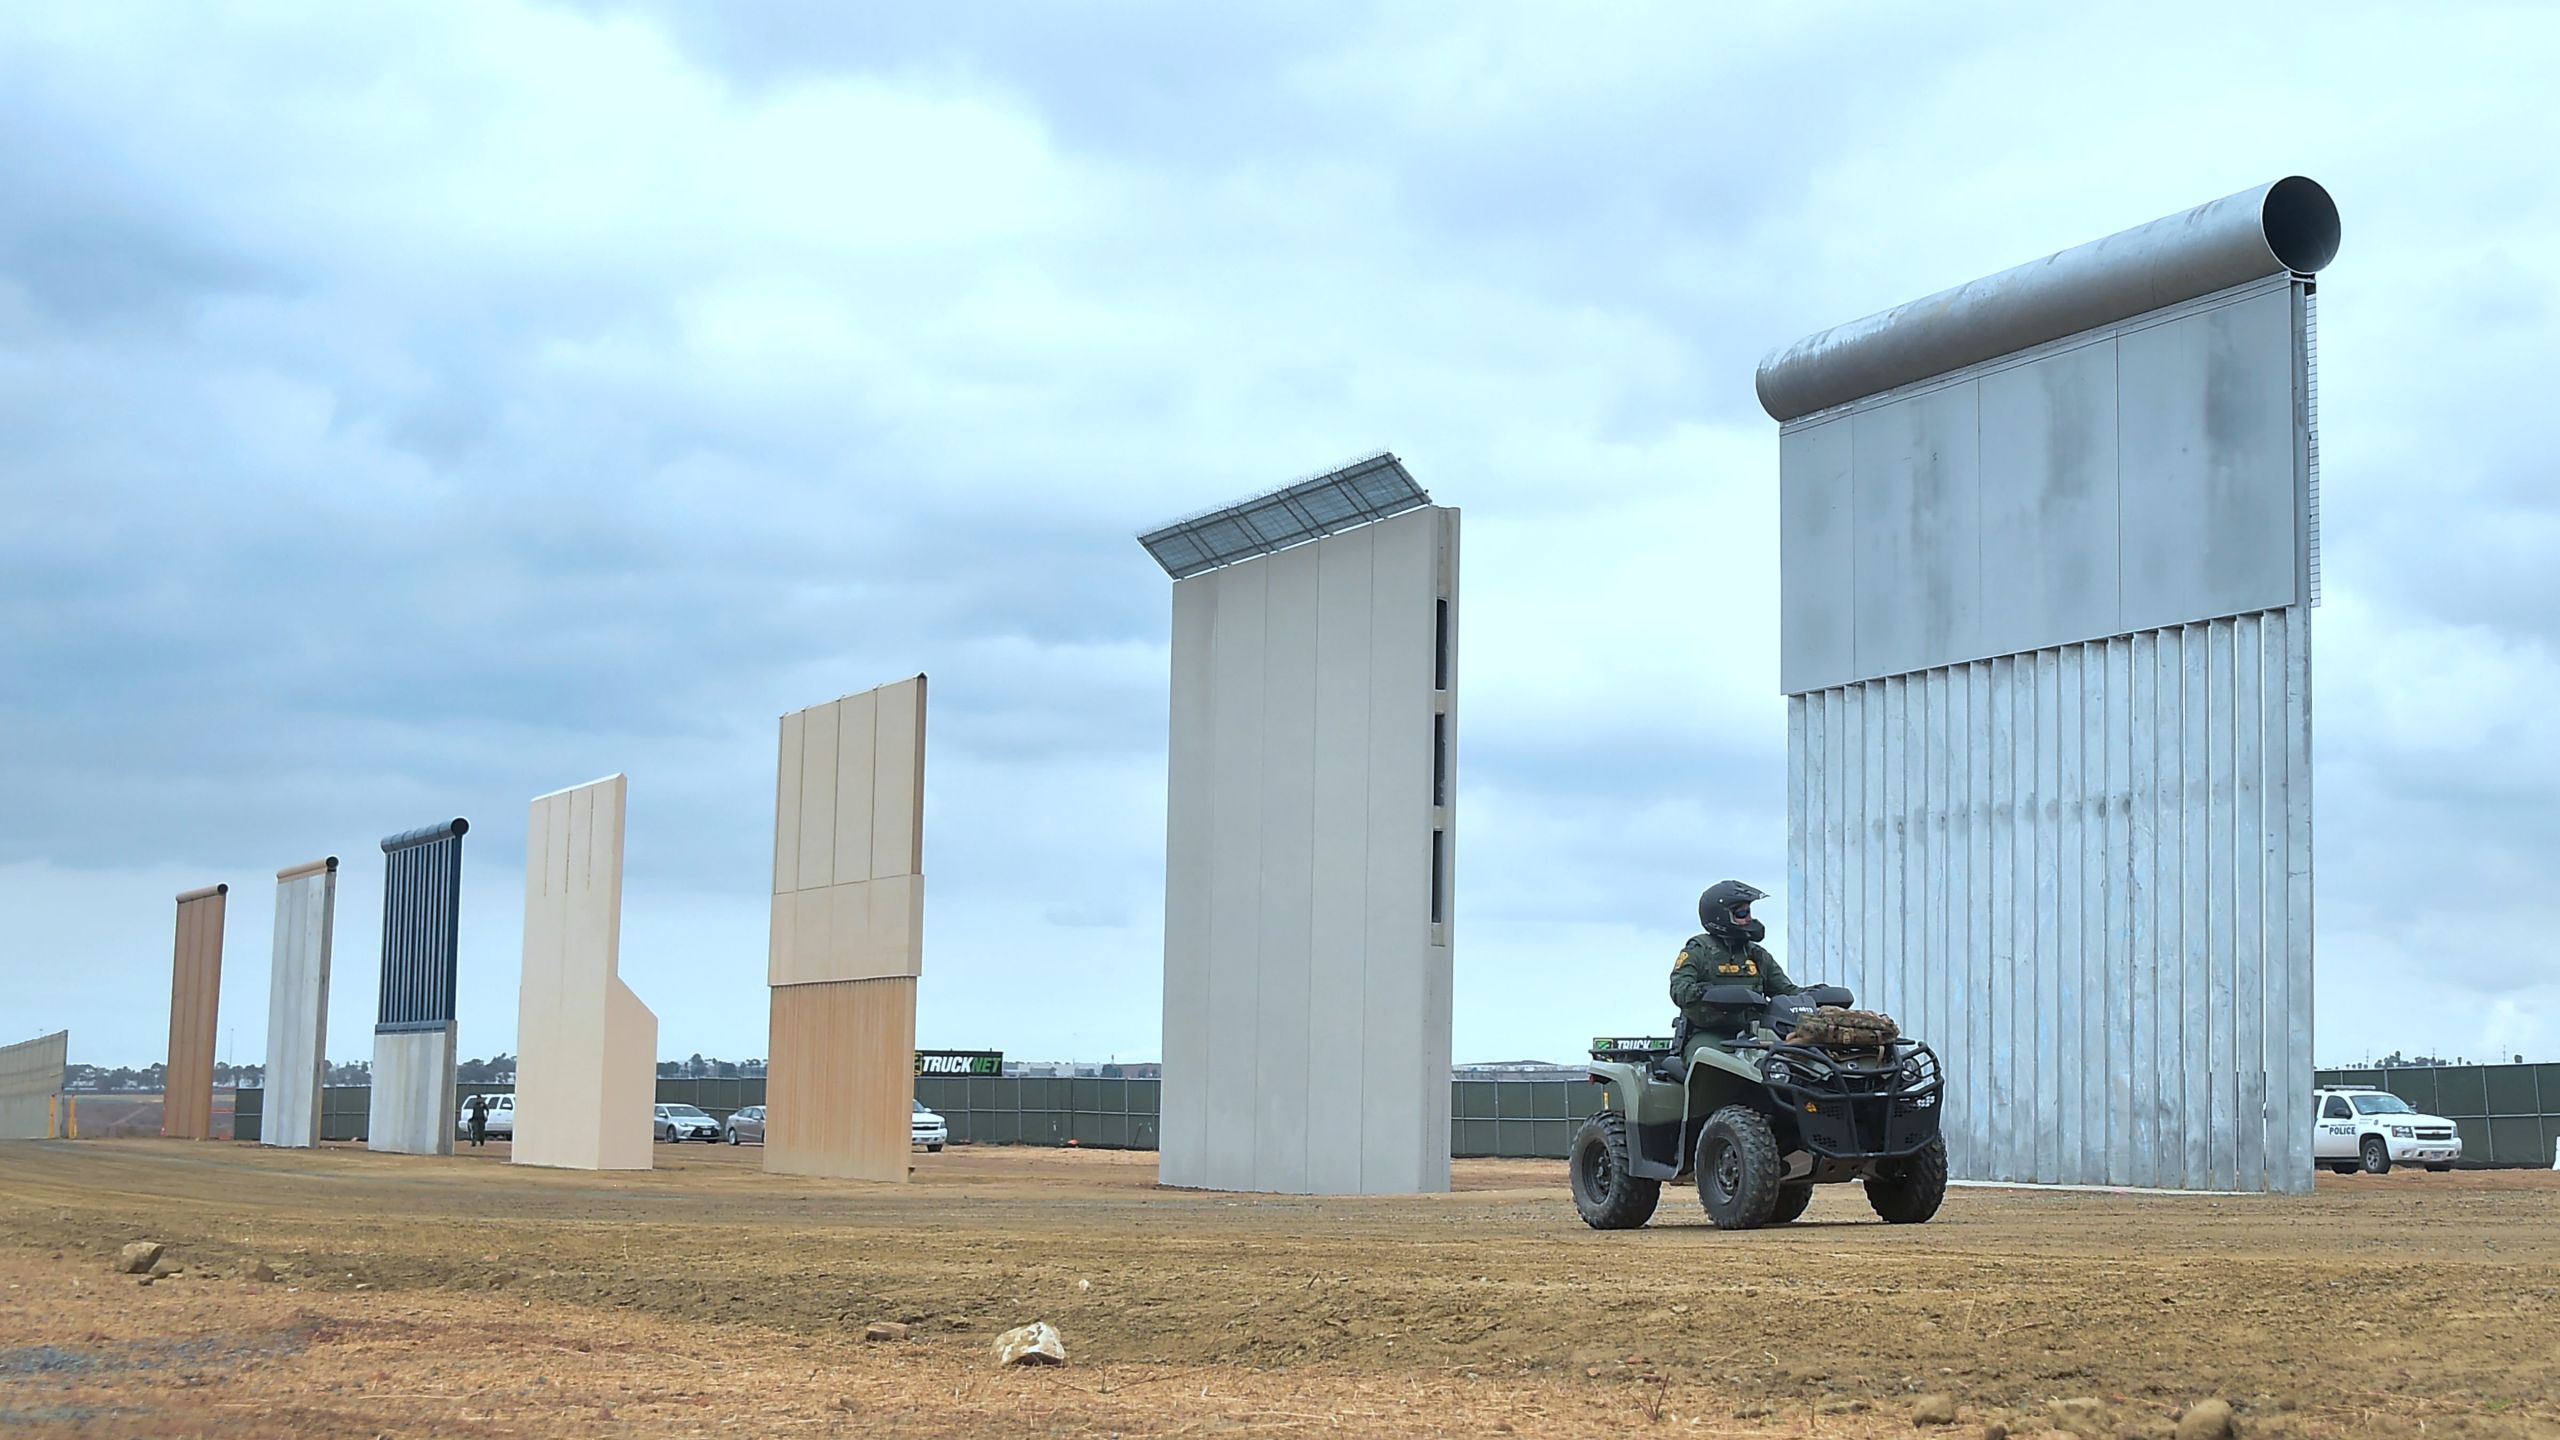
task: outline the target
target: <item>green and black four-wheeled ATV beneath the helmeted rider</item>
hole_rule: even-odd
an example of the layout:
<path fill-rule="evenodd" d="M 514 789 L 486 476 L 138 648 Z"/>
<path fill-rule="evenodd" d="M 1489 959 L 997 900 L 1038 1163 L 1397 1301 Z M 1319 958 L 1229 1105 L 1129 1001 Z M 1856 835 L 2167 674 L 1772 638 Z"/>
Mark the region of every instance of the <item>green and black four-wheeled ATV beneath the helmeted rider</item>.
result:
<path fill-rule="evenodd" d="M 1720 1230 L 1759 1230 L 1805 1215 L 1812 1186 L 1864 1181 L 1894 1225 L 1920 1225 L 1946 1199 L 1938 1053 L 1920 1040 L 1876 1045 L 1787 1040 L 1815 1007 L 1851 1004 L 1841 986 L 1764 997 L 1708 989 L 1708 1004 L 1754 1010 L 1731 1048 L 1674 1040 L 1592 1040 L 1603 1109 L 1572 1143 L 1574 1209 L 1592 1230 L 1654 1217 L 1661 1181 L 1697 1176 Z"/>

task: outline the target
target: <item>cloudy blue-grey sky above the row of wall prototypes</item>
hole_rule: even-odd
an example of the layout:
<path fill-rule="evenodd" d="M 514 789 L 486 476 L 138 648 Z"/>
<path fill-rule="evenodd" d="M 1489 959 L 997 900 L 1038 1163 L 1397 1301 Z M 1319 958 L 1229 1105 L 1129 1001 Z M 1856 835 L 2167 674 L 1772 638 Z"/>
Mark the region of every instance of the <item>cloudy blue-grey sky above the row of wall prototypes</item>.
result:
<path fill-rule="evenodd" d="M 1467 512 L 1459 1058 L 1784 881 L 1805 331 L 2278 174 L 2322 284 L 2319 1056 L 2560 1056 L 2542 5 L 15 5 L 0 1040 L 166 1038 L 169 897 L 630 774 L 660 1048 L 765 1048 L 773 717 L 934 676 L 924 1045 L 1155 1058 L 1165 577 L 1370 448 Z M 1779 912 L 1772 910 L 1772 917 Z"/>

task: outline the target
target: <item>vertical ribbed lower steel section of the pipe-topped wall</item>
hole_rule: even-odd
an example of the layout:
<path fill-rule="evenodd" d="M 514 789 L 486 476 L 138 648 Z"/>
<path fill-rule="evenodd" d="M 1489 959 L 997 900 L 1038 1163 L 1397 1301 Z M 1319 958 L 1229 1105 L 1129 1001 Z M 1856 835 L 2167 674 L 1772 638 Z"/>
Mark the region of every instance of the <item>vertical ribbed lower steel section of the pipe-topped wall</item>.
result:
<path fill-rule="evenodd" d="M 2309 612 L 1789 697 L 1789 956 L 1948 1063 L 1958 1179 L 2312 1184 Z"/>

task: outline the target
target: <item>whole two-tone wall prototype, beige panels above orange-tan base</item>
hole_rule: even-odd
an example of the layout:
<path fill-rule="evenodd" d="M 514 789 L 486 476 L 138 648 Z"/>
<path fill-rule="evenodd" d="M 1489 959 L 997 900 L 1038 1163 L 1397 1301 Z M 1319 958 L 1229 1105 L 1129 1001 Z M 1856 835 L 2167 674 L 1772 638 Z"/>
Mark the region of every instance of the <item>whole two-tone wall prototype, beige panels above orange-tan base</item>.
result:
<path fill-rule="evenodd" d="M 781 720 L 765 1168 L 906 1179 L 924 969 L 924 676 Z"/>

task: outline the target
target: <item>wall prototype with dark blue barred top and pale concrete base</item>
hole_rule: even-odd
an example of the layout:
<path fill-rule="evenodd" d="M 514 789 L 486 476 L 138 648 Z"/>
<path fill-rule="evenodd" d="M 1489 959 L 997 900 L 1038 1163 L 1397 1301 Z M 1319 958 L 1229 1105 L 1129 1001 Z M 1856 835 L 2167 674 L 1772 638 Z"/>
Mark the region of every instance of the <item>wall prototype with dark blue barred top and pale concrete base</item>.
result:
<path fill-rule="evenodd" d="M 366 1148 L 453 1153 L 453 961 L 463 833 L 445 820 L 381 843 L 381 999 Z"/>

